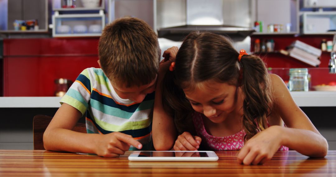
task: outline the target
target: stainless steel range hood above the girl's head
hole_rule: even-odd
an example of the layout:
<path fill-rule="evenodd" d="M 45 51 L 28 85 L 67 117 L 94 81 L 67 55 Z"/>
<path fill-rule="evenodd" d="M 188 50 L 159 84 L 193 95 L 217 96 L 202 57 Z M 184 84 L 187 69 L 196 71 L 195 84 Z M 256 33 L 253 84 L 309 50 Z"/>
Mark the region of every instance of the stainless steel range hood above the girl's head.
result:
<path fill-rule="evenodd" d="M 192 31 L 242 38 L 251 35 L 251 0 L 157 0 L 159 38 L 182 40 Z"/>

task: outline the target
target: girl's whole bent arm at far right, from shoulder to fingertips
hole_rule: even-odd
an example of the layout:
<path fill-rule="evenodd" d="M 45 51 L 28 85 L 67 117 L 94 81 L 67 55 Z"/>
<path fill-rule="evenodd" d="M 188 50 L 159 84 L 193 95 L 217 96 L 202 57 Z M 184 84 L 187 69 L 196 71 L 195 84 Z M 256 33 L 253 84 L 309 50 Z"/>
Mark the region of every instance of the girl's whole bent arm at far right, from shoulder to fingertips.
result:
<path fill-rule="evenodd" d="M 249 139 L 238 154 L 243 164 L 263 164 L 270 160 L 281 145 L 287 146 L 309 157 L 324 157 L 328 142 L 310 122 L 304 112 L 295 104 L 283 80 L 270 74 L 274 110 L 287 127 L 270 126 Z"/>

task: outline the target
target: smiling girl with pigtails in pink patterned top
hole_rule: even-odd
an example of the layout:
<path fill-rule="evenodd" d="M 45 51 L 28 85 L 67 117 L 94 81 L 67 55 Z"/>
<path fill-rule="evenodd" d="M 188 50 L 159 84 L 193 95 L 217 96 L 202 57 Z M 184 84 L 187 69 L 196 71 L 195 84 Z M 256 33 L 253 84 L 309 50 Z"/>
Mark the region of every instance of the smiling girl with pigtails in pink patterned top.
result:
<path fill-rule="evenodd" d="M 191 33 L 169 69 L 162 93 L 156 91 L 157 150 L 240 150 L 243 164 L 263 164 L 288 148 L 309 157 L 327 155 L 326 139 L 283 80 L 268 74 L 259 57 L 238 53 L 225 37 Z"/>

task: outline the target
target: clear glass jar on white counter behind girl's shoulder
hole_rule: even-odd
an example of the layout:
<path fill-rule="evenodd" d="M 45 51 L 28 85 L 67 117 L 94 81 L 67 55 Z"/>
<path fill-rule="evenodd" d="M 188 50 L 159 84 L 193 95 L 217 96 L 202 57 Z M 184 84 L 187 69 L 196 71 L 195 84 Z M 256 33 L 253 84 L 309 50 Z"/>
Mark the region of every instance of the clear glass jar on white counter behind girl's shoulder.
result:
<path fill-rule="evenodd" d="M 309 90 L 308 69 L 307 68 L 291 68 L 289 69 L 289 91 L 305 91 Z"/>

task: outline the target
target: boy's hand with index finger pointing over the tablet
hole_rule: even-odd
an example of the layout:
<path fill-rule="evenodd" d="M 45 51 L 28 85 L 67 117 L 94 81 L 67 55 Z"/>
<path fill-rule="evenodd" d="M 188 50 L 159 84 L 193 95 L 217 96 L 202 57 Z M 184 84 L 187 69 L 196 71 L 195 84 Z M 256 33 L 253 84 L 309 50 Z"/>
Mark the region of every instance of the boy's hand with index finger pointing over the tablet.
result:
<path fill-rule="evenodd" d="M 142 144 L 133 139 L 131 135 L 120 132 L 104 134 L 95 143 L 95 154 L 102 157 L 117 157 L 125 154 L 130 145 L 137 149 L 142 148 Z"/>

